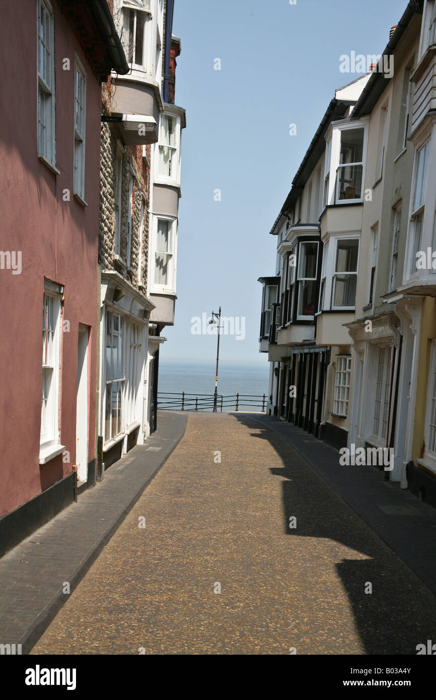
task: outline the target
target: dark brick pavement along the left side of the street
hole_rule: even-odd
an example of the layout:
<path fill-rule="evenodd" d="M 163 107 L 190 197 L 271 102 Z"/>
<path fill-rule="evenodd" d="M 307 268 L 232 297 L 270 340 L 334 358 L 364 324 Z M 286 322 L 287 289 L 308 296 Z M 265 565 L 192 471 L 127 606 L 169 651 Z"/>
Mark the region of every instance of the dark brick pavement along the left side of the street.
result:
<path fill-rule="evenodd" d="M 29 653 L 175 449 L 187 416 L 158 415 L 145 445 L 0 559 L 0 643 Z"/>

